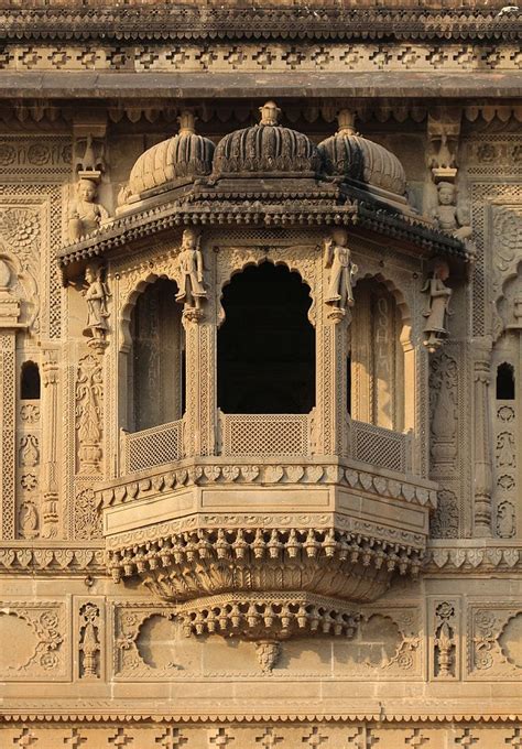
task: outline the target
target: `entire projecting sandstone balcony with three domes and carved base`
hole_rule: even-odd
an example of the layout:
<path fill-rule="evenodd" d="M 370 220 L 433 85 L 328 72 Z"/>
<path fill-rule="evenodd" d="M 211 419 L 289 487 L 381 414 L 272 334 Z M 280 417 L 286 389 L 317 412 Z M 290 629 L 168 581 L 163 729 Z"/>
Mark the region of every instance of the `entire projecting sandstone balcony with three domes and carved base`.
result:
<path fill-rule="evenodd" d="M 357 605 L 422 571 L 428 357 L 468 258 L 349 112 L 318 145 L 279 115 L 215 145 L 184 112 L 62 252 L 105 382 L 104 458 L 89 413 L 79 439 L 111 476 L 113 578 L 187 633 L 265 643 L 350 636 Z"/>

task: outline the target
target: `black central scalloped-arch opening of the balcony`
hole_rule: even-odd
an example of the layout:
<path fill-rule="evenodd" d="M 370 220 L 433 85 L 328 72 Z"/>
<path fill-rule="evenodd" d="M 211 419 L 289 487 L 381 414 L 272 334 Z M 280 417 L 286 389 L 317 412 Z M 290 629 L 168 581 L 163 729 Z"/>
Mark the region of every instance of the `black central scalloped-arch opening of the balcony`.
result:
<path fill-rule="evenodd" d="M 218 405 L 224 413 L 308 413 L 315 405 L 315 330 L 309 286 L 262 263 L 224 291 L 218 330 Z"/>

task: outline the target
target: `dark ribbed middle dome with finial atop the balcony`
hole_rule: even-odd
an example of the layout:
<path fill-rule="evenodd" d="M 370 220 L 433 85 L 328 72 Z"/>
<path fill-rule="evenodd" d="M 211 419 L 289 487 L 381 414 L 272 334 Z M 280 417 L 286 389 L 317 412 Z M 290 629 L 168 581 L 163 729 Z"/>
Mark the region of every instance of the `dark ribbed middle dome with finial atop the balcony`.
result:
<path fill-rule="evenodd" d="M 225 135 L 216 146 L 213 173 L 316 172 L 317 149 L 302 132 L 278 124 L 281 110 L 273 101 L 260 107 L 261 121 Z"/>

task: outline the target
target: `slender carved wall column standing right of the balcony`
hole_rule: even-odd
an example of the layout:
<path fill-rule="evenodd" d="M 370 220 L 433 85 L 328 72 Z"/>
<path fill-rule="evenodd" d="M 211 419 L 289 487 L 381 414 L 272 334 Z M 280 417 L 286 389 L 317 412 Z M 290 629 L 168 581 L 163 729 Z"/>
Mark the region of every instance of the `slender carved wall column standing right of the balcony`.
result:
<path fill-rule="evenodd" d="M 475 341 L 477 343 L 477 341 Z M 490 347 L 476 346 L 474 534 L 491 535 L 491 438 L 489 421 Z"/>

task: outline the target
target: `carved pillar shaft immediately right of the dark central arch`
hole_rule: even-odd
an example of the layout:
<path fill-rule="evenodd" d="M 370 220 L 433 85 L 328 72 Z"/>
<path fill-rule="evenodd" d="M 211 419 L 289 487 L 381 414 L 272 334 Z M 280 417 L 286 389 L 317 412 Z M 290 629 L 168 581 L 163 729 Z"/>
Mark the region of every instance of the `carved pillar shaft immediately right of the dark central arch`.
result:
<path fill-rule="evenodd" d="M 347 428 L 348 319 L 323 321 L 317 332 L 317 434 L 319 455 L 342 455 Z"/>

